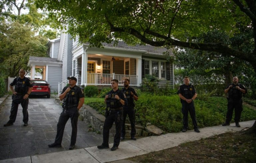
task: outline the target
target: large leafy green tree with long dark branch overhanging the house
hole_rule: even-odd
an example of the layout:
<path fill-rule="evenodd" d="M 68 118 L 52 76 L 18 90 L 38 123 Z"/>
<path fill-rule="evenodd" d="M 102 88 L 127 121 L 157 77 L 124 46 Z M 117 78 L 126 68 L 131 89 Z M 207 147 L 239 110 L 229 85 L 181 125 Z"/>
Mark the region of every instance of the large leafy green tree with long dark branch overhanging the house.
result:
<path fill-rule="evenodd" d="M 248 61 L 256 71 L 255 0 L 36 0 L 69 33 L 100 47 L 120 38 L 127 43 L 221 53 Z M 251 49 L 243 51 L 223 42 L 195 42 L 202 33 L 225 31 L 231 38 L 241 27 L 252 31 Z M 114 32 L 114 33 L 112 33 Z M 239 41 L 238 41 L 239 43 Z M 255 125 L 256 126 L 256 125 Z M 256 131 L 256 130 L 255 130 Z"/>

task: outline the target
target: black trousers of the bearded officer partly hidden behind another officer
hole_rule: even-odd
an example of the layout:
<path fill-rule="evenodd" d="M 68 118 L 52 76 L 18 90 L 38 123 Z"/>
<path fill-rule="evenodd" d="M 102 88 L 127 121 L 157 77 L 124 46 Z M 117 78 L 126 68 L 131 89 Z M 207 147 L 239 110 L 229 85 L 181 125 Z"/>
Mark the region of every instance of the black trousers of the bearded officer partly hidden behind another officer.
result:
<path fill-rule="evenodd" d="M 123 109 L 123 125 L 122 125 L 121 136 L 125 137 L 125 120 L 126 120 L 127 114 L 128 114 L 129 120 L 131 122 L 131 137 L 134 137 L 136 135 L 134 108 Z"/>

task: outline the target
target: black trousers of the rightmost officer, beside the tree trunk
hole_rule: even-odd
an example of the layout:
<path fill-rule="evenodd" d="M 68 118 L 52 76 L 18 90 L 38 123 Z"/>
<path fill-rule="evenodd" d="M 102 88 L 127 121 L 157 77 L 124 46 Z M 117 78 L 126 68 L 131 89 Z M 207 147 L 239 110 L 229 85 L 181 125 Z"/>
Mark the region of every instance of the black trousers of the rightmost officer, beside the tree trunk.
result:
<path fill-rule="evenodd" d="M 235 109 L 235 122 L 239 122 L 242 114 L 242 98 L 240 99 L 232 99 L 229 98 L 227 102 L 227 115 L 226 115 L 226 122 L 230 122 L 233 116 L 233 110 Z"/>

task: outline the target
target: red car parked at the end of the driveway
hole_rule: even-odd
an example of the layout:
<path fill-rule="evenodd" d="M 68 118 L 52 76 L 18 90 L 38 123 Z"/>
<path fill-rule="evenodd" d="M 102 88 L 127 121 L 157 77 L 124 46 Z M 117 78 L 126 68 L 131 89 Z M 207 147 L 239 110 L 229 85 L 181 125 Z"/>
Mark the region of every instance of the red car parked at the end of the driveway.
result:
<path fill-rule="evenodd" d="M 51 92 L 50 92 L 50 84 L 47 83 L 46 80 L 31 80 L 33 89 L 30 93 L 31 95 L 44 95 L 47 96 L 47 98 L 50 98 Z"/>

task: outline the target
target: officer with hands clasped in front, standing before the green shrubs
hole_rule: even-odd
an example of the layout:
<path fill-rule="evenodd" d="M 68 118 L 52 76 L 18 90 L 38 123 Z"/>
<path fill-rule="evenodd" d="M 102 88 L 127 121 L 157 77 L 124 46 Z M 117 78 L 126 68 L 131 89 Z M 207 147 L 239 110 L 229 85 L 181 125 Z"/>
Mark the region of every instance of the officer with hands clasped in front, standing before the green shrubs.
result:
<path fill-rule="evenodd" d="M 195 117 L 195 106 L 193 100 L 197 97 L 197 92 L 195 91 L 195 87 L 190 84 L 190 78 L 184 78 L 184 84 L 179 86 L 179 98 L 181 98 L 182 103 L 182 113 L 183 113 L 183 129 L 182 132 L 186 132 L 189 127 L 188 122 L 188 113 L 190 113 L 190 117 L 192 119 L 192 123 L 194 126 L 195 132 L 200 132 L 197 126 L 197 119 Z"/>

